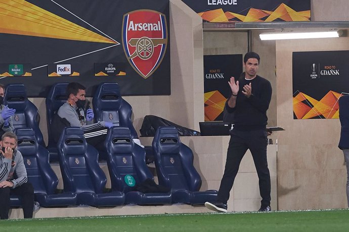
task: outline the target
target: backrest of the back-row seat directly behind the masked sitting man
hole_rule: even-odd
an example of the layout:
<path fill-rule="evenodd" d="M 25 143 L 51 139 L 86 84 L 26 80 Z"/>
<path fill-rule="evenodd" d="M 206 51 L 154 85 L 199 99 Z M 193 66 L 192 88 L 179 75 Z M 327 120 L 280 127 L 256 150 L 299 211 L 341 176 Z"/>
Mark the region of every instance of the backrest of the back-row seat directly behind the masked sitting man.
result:
<path fill-rule="evenodd" d="M 56 147 L 57 143 L 53 138 L 52 133 L 52 122 L 54 115 L 57 114 L 57 111 L 64 102 L 67 101 L 68 96 L 66 94 L 66 88 L 68 83 L 57 83 L 53 85 L 50 89 L 50 92 L 46 98 L 46 118 L 47 118 L 47 129 L 49 135 L 49 144 L 48 147 Z"/>

